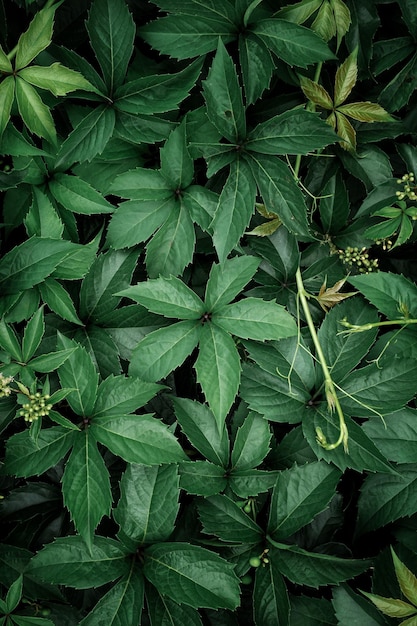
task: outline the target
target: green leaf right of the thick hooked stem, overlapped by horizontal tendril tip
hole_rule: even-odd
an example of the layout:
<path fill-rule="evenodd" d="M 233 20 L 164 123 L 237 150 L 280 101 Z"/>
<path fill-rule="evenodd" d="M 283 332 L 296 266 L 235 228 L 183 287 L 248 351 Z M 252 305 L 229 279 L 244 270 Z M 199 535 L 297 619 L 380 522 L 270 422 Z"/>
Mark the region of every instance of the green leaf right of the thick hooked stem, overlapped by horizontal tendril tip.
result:
<path fill-rule="evenodd" d="M 366 356 L 377 334 L 377 329 L 366 333 L 343 334 L 340 332 L 343 319 L 355 320 L 355 324 L 362 325 L 378 322 L 378 316 L 375 309 L 367 306 L 361 298 L 339 302 L 326 314 L 318 337 L 332 378 L 340 385 Z"/>

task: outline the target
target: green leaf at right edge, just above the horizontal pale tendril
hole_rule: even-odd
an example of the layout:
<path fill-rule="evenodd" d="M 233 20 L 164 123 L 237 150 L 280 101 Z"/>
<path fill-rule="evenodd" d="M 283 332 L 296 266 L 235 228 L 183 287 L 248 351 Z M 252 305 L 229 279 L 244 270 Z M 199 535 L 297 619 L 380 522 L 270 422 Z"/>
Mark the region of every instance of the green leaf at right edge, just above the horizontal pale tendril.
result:
<path fill-rule="evenodd" d="M 373 276 L 352 276 L 348 280 L 388 319 L 417 316 L 417 288 L 402 274 L 378 272 Z"/>

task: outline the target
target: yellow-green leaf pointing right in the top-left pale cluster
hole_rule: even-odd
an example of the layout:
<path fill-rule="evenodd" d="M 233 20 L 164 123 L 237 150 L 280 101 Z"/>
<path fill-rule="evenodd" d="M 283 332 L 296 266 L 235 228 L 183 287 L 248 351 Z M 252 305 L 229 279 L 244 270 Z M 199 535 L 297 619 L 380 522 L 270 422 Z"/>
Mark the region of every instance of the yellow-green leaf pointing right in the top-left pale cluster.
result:
<path fill-rule="evenodd" d="M 65 96 L 76 89 L 95 91 L 93 85 L 82 74 L 70 70 L 61 63 L 53 63 L 49 67 L 32 65 L 20 70 L 18 75 L 35 87 L 47 89 L 54 96 Z"/>

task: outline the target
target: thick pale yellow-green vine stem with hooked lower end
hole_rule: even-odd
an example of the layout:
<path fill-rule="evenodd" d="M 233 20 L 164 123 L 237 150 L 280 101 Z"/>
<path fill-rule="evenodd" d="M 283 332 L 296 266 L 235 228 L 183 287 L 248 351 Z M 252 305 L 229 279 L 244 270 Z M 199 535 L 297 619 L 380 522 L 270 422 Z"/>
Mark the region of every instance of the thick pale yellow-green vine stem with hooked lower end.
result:
<path fill-rule="evenodd" d="M 336 413 L 339 417 L 339 437 L 337 441 L 334 443 L 328 443 L 326 436 L 324 435 L 321 428 L 316 428 L 316 437 L 317 442 L 325 449 L 325 450 L 334 450 L 341 444 L 343 444 L 343 448 L 345 452 L 348 452 L 348 429 L 345 422 L 345 416 L 343 415 L 342 407 L 340 406 L 339 398 L 337 396 L 337 391 L 333 379 L 330 375 L 329 367 L 326 362 L 326 358 L 323 354 L 323 350 L 317 336 L 317 332 L 314 326 L 313 318 L 311 317 L 310 309 L 308 306 L 307 298 L 309 294 L 304 289 L 304 283 L 301 277 L 301 269 L 297 269 L 297 273 L 295 275 L 297 281 L 297 297 L 301 302 L 301 306 L 303 307 L 304 315 L 306 318 L 306 322 L 308 325 L 308 329 L 310 331 L 311 338 L 314 343 L 314 347 L 316 349 L 316 357 L 320 363 L 321 369 L 323 371 L 324 376 L 324 389 L 326 394 L 327 406 L 329 411 L 333 413 L 336 410 Z"/>

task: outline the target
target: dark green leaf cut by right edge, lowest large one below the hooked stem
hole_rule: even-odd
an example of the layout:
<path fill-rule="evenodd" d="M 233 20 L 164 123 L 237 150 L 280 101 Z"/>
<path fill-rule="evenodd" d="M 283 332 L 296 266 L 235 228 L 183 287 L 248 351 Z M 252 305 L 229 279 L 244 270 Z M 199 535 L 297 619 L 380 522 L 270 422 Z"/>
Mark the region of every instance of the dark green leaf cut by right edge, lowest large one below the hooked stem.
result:
<path fill-rule="evenodd" d="M 417 472 L 414 464 L 398 465 L 396 474 L 370 474 L 358 501 L 359 534 L 382 528 L 417 512 L 413 498 Z"/>

